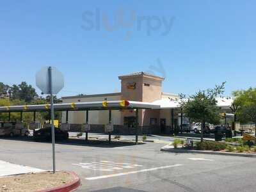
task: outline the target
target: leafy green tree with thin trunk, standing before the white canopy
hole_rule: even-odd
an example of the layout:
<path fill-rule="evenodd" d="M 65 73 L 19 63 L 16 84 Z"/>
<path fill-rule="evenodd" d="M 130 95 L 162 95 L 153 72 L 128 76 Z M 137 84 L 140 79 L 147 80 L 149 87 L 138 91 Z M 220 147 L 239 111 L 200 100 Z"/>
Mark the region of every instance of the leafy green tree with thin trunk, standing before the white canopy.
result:
<path fill-rule="evenodd" d="M 181 102 L 180 108 L 183 113 L 190 120 L 200 122 L 201 128 L 201 142 L 204 139 L 204 127 L 206 123 L 218 124 L 220 122 L 220 108 L 217 106 L 216 97 L 224 92 L 225 83 L 220 86 L 216 85 L 215 88 L 200 90 L 195 95 L 180 95 Z"/>

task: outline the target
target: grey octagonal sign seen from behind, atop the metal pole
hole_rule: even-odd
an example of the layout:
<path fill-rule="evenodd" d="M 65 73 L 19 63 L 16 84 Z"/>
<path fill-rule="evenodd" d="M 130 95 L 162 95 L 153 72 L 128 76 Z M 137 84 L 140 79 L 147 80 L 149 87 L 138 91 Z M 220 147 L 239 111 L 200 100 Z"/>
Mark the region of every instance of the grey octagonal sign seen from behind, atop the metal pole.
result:
<path fill-rule="evenodd" d="M 57 94 L 64 86 L 64 77 L 61 72 L 51 67 L 52 72 L 52 93 Z M 36 86 L 40 88 L 42 93 L 50 94 L 49 88 L 49 67 L 43 67 L 36 73 Z"/>

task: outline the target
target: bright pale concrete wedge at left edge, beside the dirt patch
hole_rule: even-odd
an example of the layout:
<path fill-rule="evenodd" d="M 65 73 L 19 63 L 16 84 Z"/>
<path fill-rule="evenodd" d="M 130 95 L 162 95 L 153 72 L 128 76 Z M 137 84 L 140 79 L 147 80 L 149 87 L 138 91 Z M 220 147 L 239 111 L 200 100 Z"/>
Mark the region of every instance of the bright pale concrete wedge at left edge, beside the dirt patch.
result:
<path fill-rule="evenodd" d="M 39 173 L 44 171 L 45 170 L 40 170 L 38 168 L 33 168 L 30 166 L 23 166 L 19 164 L 8 163 L 6 161 L 0 161 L 0 177 L 31 172 Z"/>

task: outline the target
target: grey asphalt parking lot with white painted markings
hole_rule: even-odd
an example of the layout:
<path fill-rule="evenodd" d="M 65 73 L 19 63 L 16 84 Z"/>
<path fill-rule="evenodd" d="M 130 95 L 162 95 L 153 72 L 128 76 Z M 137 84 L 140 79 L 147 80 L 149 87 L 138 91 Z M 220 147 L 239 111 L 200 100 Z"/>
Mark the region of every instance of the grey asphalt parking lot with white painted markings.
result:
<path fill-rule="evenodd" d="M 254 158 L 171 154 L 163 145 L 57 143 L 56 167 L 79 175 L 77 191 L 255 191 Z M 0 138 L 1 161 L 51 170 L 51 158 L 51 143 Z"/>

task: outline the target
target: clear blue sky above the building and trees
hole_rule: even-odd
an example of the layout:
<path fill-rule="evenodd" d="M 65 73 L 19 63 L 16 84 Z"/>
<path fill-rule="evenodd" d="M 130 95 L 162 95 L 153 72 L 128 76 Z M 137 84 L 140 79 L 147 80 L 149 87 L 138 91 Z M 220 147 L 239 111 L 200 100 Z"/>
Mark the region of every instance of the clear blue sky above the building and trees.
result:
<path fill-rule="evenodd" d="M 36 71 L 52 65 L 65 76 L 58 96 L 109 93 L 120 91 L 118 75 L 151 71 L 165 74 L 164 92 L 227 81 L 229 95 L 255 86 L 255 8 L 253 0 L 2 1 L 0 81 L 35 86 Z"/>

